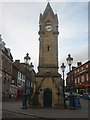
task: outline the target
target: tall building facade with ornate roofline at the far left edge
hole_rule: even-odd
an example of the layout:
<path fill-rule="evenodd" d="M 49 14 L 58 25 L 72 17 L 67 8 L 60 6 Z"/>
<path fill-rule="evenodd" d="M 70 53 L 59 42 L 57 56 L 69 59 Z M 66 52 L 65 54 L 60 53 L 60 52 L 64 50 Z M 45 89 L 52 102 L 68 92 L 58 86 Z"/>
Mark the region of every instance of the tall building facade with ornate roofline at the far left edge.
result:
<path fill-rule="evenodd" d="M 2 99 L 10 97 L 10 84 L 12 80 L 12 63 L 13 57 L 10 49 L 5 47 L 5 43 L 0 36 L 0 52 L 1 52 L 1 71 L 2 71 Z"/>

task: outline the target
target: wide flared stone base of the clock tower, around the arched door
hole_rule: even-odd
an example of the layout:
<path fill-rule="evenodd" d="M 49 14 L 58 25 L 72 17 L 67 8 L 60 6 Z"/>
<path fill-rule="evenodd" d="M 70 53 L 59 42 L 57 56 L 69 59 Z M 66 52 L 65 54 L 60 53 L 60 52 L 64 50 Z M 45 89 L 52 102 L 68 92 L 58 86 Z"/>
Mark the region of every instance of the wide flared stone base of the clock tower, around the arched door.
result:
<path fill-rule="evenodd" d="M 33 107 L 60 109 L 66 107 L 62 93 L 62 79 L 59 73 L 37 73 L 35 83 Z"/>

